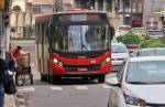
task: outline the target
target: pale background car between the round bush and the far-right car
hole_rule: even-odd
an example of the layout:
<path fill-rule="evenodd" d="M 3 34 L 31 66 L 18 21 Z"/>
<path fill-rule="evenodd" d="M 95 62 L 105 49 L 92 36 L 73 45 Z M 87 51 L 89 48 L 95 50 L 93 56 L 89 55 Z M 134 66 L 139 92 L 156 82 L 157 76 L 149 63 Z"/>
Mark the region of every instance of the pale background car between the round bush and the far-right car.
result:
<path fill-rule="evenodd" d="M 136 35 L 140 35 L 140 38 L 145 39 L 146 35 L 146 29 L 145 28 L 133 28 L 132 32 Z"/>

